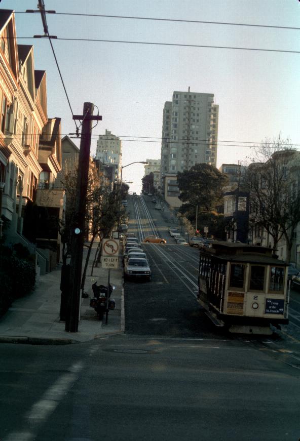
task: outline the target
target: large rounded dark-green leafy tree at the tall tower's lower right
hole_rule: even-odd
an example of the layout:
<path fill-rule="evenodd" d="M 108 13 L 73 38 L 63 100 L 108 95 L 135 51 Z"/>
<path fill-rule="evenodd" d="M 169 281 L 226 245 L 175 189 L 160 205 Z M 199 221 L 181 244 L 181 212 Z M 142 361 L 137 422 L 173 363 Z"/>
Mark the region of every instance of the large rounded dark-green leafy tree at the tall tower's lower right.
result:
<path fill-rule="evenodd" d="M 222 205 L 222 187 L 228 178 L 209 164 L 196 164 L 177 173 L 179 199 L 198 206 L 199 211 L 212 211 Z"/>

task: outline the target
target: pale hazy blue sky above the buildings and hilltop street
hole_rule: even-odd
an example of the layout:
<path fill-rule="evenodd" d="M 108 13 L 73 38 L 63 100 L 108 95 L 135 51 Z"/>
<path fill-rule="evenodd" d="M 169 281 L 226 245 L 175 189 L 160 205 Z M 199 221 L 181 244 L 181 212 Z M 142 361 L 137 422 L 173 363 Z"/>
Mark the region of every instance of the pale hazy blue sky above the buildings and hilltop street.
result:
<path fill-rule="evenodd" d="M 300 28 L 298 0 L 44 0 L 56 13 L 101 14 Z M 36 10 L 37 0 L 2 0 L 2 9 Z M 289 138 L 300 148 L 298 29 L 47 14 L 50 35 L 299 53 L 52 40 L 74 114 L 92 102 L 102 115 L 91 154 L 105 129 L 123 140 L 122 164 L 160 158 L 162 116 L 173 91 L 213 93 L 219 105 L 217 167 L 253 157 L 249 145 Z M 35 69 L 47 71 L 48 117 L 75 125 L 40 14 L 16 14 L 18 44 L 34 46 Z M 71 135 L 70 135 L 71 136 Z M 80 140 L 73 139 L 79 146 Z M 247 144 L 249 143 L 249 144 Z M 248 147 L 246 147 L 248 146 Z M 125 167 L 140 191 L 144 166 Z"/>

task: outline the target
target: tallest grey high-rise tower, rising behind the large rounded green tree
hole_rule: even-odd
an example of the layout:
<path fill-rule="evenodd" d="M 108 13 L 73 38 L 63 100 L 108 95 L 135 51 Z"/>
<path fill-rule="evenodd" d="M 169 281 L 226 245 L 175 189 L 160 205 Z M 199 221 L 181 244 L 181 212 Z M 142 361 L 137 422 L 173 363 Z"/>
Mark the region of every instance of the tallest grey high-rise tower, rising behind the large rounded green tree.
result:
<path fill-rule="evenodd" d="M 163 113 L 161 182 L 198 163 L 216 166 L 218 110 L 213 94 L 173 92 Z"/>

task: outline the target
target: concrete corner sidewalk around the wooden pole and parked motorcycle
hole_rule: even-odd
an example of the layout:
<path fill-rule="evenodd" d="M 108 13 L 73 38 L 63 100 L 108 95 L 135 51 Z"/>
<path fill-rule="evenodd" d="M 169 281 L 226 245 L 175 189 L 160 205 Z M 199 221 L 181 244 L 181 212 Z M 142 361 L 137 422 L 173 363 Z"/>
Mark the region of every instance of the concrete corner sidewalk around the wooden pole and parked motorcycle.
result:
<path fill-rule="evenodd" d="M 116 309 L 109 310 L 108 323 L 99 320 L 96 312 L 90 307 L 93 297 L 92 284 L 107 285 L 108 270 L 94 268 L 91 276 L 97 243 L 94 244 L 86 275 L 85 292 L 89 297 L 81 300 L 79 331 L 65 331 L 65 322 L 60 322 L 60 275 L 61 267 L 45 274 L 36 281 L 31 294 L 17 299 L 6 314 L 0 318 L 0 343 L 29 343 L 58 345 L 90 341 L 103 335 L 124 332 L 124 290 L 122 279 L 122 259 L 119 257 L 119 269 L 110 271 L 110 284 L 116 289 L 111 294 L 116 300 Z M 84 248 L 84 261 L 87 248 Z"/>

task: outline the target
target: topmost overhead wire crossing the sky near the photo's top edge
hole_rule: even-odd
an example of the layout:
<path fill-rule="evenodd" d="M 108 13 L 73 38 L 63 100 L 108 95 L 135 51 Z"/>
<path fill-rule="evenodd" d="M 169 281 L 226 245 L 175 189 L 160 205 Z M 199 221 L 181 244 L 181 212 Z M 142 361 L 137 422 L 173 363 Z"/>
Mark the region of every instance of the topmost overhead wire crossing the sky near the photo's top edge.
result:
<path fill-rule="evenodd" d="M 27 10 L 16 11 L 16 14 L 34 13 L 35 11 Z M 46 11 L 47 13 L 48 11 Z M 231 23 L 222 21 L 204 21 L 204 20 L 187 20 L 187 19 L 176 19 L 176 18 L 158 18 L 158 17 L 131 17 L 126 15 L 105 15 L 105 14 L 83 14 L 83 13 L 73 13 L 73 12 L 55 12 L 49 11 L 49 14 L 53 15 L 72 15 L 80 17 L 101 17 L 101 18 L 117 18 L 126 20 L 153 20 L 153 21 L 166 21 L 166 22 L 177 22 L 177 23 L 201 23 L 201 24 L 216 24 L 216 25 L 226 25 L 226 26 L 248 26 L 248 27 L 262 27 L 262 28 L 273 28 L 273 29 L 291 29 L 300 30 L 299 27 L 291 26 L 275 26 L 268 24 L 251 24 L 251 23 Z"/>

